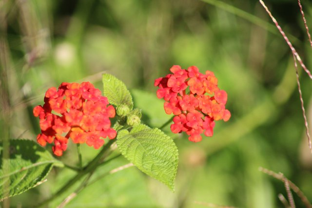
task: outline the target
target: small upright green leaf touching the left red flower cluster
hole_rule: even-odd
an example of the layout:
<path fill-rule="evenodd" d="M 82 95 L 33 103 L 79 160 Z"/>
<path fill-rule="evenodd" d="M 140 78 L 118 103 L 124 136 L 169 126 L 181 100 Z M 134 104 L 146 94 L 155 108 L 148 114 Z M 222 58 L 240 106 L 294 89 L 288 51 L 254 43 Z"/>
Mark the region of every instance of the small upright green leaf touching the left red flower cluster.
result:
<path fill-rule="evenodd" d="M 102 77 L 103 93 L 108 98 L 108 101 L 115 105 L 127 105 L 130 110 L 133 108 L 133 101 L 130 92 L 126 85 L 110 74 L 104 74 Z"/>

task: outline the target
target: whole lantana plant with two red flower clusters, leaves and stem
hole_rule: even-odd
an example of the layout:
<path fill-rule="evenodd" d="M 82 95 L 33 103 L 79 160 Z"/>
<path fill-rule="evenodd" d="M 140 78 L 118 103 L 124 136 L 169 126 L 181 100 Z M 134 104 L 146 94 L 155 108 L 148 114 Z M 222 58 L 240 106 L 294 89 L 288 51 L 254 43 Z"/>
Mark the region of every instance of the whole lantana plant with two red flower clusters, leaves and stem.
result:
<path fill-rule="evenodd" d="M 212 136 L 215 121 L 227 121 L 231 116 L 225 109 L 226 92 L 218 88 L 217 79 L 210 71 L 201 74 L 195 66 L 184 70 L 176 65 L 170 71 L 173 74 L 155 80 L 158 87 L 155 96 L 165 100 L 164 113 L 174 114 L 171 131 L 186 132 L 193 142 L 202 139 L 201 133 Z M 174 140 L 162 132 L 162 127 L 151 128 L 141 123 L 141 110 L 135 108 L 132 95 L 122 81 L 104 74 L 102 82 L 104 96 L 90 82 L 63 82 L 58 89 L 52 87 L 46 91 L 44 104 L 33 109 L 34 116 L 39 117 L 41 130 L 37 143 L 26 139 L 10 141 L 12 151 L 10 157 L 4 159 L 10 168 L 0 169 L 0 184 L 4 184 L 0 199 L 43 183 L 53 166 L 70 168 L 77 173 L 56 193 L 41 200 L 39 207 L 49 204 L 88 176 L 80 185 L 84 188 L 97 168 L 105 164 L 115 142 L 118 151 L 130 163 L 174 191 L 178 164 Z M 104 138 L 108 138 L 106 144 Z M 60 160 L 69 142 L 77 144 L 77 167 Z M 43 148 L 52 143 L 55 156 Z M 81 162 L 80 144 L 83 143 L 94 149 L 101 148 L 85 166 Z M 2 144 L 0 151 L 3 151 Z"/>

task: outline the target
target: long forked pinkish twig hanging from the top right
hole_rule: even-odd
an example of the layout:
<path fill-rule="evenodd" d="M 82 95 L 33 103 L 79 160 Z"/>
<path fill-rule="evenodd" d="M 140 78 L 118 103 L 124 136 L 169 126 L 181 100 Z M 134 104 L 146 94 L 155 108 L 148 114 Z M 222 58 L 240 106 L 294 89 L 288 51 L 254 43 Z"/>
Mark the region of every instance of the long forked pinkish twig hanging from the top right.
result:
<path fill-rule="evenodd" d="M 300 102 L 301 102 L 301 109 L 302 109 L 302 113 L 303 113 L 303 118 L 304 118 L 304 125 L 306 128 L 306 134 L 308 137 L 308 143 L 309 143 L 309 148 L 310 151 L 312 152 L 312 143 L 311 143 L 311 137 L 310 137 L 310 133 L 309 133 L 309 125 L 308 125 L 308 120 L 307 120 L 307 116 L 306 116 L 306 112 L 305 112 L 305 108 L 304 108 L 304 103 L 303 103 L 303 99 L 302 99 L 302 93 L 301 93 L 301 88 L 300 88 L 300 82 L 299 82 L 299 75 L 298 75 L 298 67 L 297 67 L 297 62 L 296 60 L 299 61 L 301 67 L 304 69 L 304 71 L 310 76 L 310 78 L 312 79 L 312 75 L 310 73 L 310 71 L 307 69 L 307 67 L 304 65 L 303 61 L 301 60 L 300 56 L 298 55 L 298 53 L 296 52 L 296 50 L 294 49 L 294 47 L 292 46 L 292 43 L 289 41 L 289 39 L 287 38 L 287 36 L 285 35 L 284 31 L 282 30 L 282 28 L 279 26 L 278 22 L 276 21 L 276 19 L 273 17 L 273 15 L 271 14 L 271 12 L 269 11 L 268 7 L 265 5 L 265 3 L 262 0 L 259 0 L 260 3 L 262 4 L 262 6 L 265 8 L 265 10 L 267 11 L 267 13 L 269 14 L 269 16 L 271 17 L 271 19 L 273 20 L 275 26 L 277 27 L 277 29 L 279 30 L 279 32 L 282 34 L 283 38 L 286 40 L 288 46 L 290 47 L 290 49 L 292 50 L 292 55 L 293 55 L 293 59 L 294 59 L 294 67 L 296 70 L 296 78 L 297 78 L 297 85 L 298 85 L 298 92 L 299 92 L 299 96 L 300 96 Z"/>

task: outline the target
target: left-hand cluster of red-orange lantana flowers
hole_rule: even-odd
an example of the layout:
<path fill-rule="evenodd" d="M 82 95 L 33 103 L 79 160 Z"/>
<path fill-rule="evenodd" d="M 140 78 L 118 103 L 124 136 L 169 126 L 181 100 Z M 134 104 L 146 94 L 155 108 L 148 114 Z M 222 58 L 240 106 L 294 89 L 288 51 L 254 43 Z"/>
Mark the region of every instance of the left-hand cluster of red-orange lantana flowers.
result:
<path fill-rule="evenodd" d="M 74 143 L 84 143 L 95 149 L 104 144 L 100 137 L 116 137 L 109 118 L 115 117 L 115 109 L 108 105 L 107 97 L 90 82 L 60 84 L 52 87 L 44 96 L 44 105 L 34 108 L 39 116 L 41 133 L 37 141 L 41 146 L 52 143 L 52 151 L 61 156 L 67 149 L 68 138 Z M 108 106 L 107 106 L 108 105 Z"/>

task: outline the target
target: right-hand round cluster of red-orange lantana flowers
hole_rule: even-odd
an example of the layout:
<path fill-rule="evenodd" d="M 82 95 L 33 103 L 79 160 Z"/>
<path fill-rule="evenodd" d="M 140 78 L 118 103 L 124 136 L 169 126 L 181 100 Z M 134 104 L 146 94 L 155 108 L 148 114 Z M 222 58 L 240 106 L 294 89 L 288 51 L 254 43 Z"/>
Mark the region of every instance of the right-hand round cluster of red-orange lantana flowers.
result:
<path fill-rule="evenodd" d="M 159 87 L 157 97 L 166 101 L 165 112 L 176 115 L 171 131 L 186 132 L 192 142 L 201 141 L 204 131 L 206 136 L 212 136 L 215 120 L 228 121 L 231 117 L 225 109 L 227 93 L 218 88 L 213 72 L 203 75 L 195 66 L 185 70 L 177 65 L 170 71 L 173 74 L 157 78 L 154 85 Z"/>

